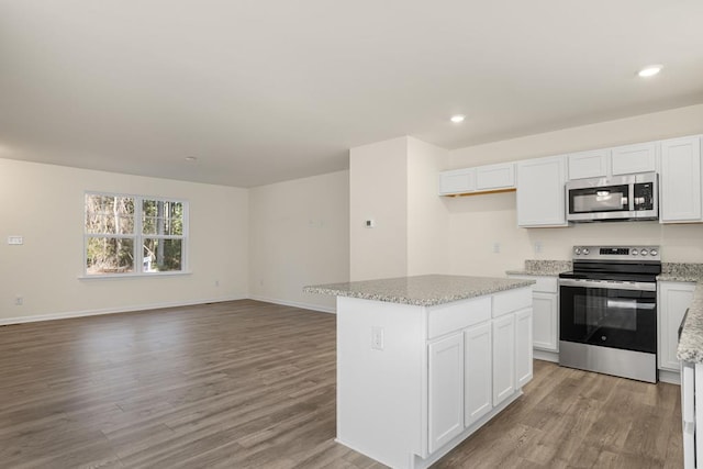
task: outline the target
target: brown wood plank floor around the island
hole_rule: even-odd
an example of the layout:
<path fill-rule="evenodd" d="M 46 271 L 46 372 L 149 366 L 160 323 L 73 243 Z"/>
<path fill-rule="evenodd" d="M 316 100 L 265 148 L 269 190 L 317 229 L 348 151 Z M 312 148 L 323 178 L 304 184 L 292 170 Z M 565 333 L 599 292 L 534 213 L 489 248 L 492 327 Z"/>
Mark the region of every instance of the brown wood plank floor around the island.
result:
<path fill-rule="evenodd" d="M 437 468 L 681 468 L 679 387 L 535 361 Z M 1 468 L 364 468 L 335 316 L 256 301 L 0 327 Z"/>

